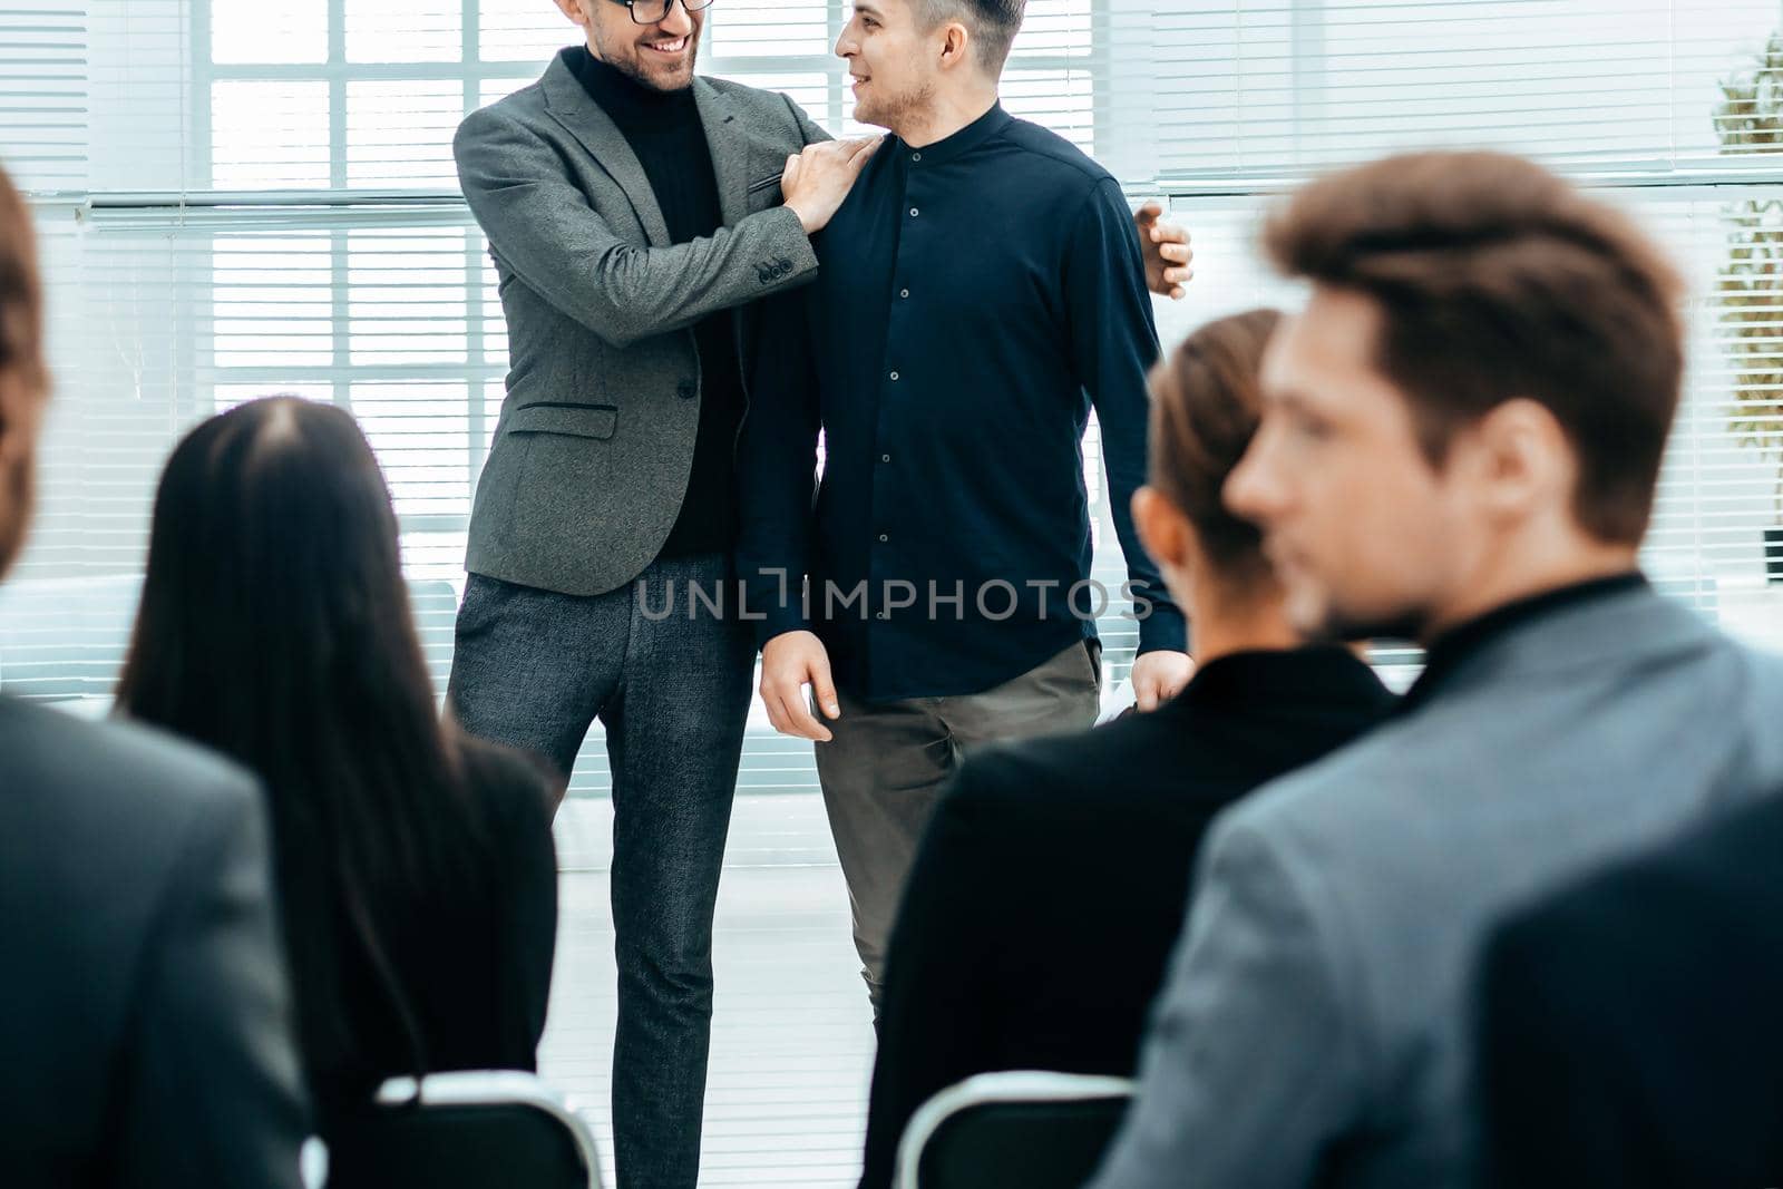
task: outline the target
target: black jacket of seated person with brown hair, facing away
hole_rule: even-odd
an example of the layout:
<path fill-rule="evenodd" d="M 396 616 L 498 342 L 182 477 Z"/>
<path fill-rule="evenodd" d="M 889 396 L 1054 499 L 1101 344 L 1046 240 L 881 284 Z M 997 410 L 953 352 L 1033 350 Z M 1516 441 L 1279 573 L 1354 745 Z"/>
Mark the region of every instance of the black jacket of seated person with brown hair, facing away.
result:
<path fill-rule="evenodd" d="M 1241 652 L 1170 704 L 966 761 L 886 955 L 863 1185 L 936 1091 L 990 1070 L 1130 1075 L 1216 813 L 1393 695 L 1343 649 Z"/>

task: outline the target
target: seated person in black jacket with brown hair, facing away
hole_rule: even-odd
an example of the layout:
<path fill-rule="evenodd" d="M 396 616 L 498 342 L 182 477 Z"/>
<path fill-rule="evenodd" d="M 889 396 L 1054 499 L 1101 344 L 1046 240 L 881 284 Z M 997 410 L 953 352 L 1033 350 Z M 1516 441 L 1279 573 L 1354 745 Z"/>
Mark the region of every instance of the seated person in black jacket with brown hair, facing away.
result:
<path fill-rule="evenodd" d="M 1348 649 L 1303 647 L 1221 501 L 1278 321 L 1209 323 L 1152 373 L 1134 522 L 1189 615 L 1195 677 L 1155 713 L 968 759 L 936 809 L 886 955 L 863 1187 L 892 1184 L 909 1116 L 974 1073 L 1130 1077 L 1214 815 L 1393 704 Z"/>

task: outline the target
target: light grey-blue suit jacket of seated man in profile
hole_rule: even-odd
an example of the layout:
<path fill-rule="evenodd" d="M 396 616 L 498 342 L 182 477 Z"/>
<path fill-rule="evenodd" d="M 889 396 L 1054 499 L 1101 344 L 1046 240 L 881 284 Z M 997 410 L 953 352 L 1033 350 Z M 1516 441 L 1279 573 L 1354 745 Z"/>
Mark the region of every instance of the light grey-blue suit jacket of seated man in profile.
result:
<path fill-rule="evenodd" d="M 1778 724 L 1783 658 L 1635 590 L 1517 626 L 1241 800 L 1095 1189 L 1466 1184 L 1487 931 L 1783 784 Z"/>

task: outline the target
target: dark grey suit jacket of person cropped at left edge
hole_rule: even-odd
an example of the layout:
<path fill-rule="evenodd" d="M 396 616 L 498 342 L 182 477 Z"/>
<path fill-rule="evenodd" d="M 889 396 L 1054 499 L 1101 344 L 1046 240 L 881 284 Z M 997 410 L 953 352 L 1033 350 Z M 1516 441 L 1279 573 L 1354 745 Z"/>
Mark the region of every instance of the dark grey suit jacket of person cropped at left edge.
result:
<path fill-rule="evenodd" d="M 308 1128 L 251 777 L 0 699 L 12 1189 L 294 1189 Z"/>

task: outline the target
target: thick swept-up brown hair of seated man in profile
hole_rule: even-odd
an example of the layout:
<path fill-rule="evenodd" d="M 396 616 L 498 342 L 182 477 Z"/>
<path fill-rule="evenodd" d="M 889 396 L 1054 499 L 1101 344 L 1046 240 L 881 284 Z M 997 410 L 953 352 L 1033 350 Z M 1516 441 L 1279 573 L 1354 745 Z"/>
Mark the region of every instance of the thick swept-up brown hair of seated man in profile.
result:
<path fill-rule="evenodd" d="M 1376 365 L 1441 465 L 1496 405 L 1544 405 L 1578 455 L 1573 512 L 1639 544 L 1683 374 L 1681 285 L 1633 223 L 1503 153 L 1412 153 L 1302 189 L 1264 232 L 1289 276 L 1382 310 Z"/>

